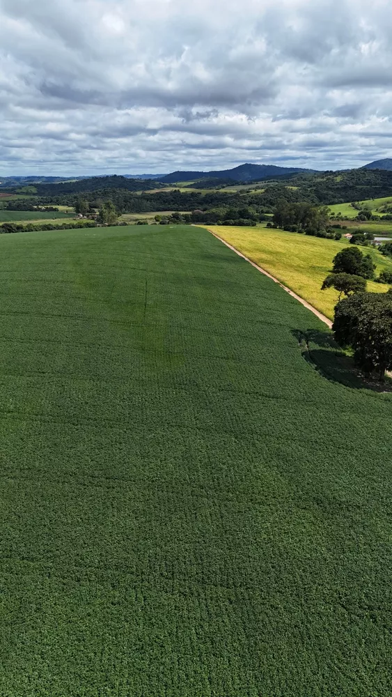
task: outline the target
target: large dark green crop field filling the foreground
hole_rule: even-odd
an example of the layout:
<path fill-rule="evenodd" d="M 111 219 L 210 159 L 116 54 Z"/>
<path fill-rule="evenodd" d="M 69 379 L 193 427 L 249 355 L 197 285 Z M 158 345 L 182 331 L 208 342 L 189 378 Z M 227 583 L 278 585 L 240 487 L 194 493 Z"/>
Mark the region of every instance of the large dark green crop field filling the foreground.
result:
<path fill-rule="evenodd" d="M 390 697 L 392 395 L 204 229 L 0 247 L 1 696 Z"/>

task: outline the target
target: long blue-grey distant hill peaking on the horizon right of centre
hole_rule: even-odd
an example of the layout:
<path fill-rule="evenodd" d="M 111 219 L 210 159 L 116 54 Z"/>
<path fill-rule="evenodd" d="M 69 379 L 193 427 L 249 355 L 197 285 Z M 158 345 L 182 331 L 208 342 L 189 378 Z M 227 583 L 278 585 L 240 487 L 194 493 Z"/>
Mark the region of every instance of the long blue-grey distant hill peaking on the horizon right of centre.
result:
<path fill-rule="evenodd" d="M 267 176 L 279 176 L 280 174 L 299 174 L 306 172 L 313 174 L 315 169 L 302 169 L 301 167 L 276 167 L 274 164 L 240 164 L 233 169 L 221 169 L 217 171 L 176 171 L 159 179 L 164 183 L 191 181 L 192 179 L 219 178 L 234 179 L 235 181 L 255 181 Z"/>

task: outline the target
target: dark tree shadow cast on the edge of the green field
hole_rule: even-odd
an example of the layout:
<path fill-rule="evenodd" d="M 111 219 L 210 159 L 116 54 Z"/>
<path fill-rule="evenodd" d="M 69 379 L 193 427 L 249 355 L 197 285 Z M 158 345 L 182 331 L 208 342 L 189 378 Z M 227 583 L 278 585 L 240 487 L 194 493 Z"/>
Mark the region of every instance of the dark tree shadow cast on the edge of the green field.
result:
<path fill-rule="evenodd" d="M 336 344 L 331 332 L 292 330 L 292 335 L 297 339 L 304 359 L 327 380 L 356 390 L 392 392 L 391 378 L 386 377 L 381 383 L 373 376 L 364 376 L 355 366 L 352 356 Z"/>

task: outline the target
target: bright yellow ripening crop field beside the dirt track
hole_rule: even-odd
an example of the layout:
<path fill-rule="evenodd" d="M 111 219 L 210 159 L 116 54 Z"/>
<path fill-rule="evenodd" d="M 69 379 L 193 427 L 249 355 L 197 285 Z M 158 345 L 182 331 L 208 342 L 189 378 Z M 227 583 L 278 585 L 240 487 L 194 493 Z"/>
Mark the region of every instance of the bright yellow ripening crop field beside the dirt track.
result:
<path fill-rule="evenodd" d="M 262 227 L 206 227 L 272 273 L 327 317 L 334 318 L 338 292 L 334 289 L 322 291 L 321 286 L 332 268 L 335 254 L 350 244 L 347 240 L 336 242 Z M 384 269 L 392 271 L 392 261 L 380 252 L 372 247 L 363 247 L 363 252 L 373 256 L 377 275 Z M 384 293 L 388 290 L 386 284 L 368 281 L 368 291 Z"/>

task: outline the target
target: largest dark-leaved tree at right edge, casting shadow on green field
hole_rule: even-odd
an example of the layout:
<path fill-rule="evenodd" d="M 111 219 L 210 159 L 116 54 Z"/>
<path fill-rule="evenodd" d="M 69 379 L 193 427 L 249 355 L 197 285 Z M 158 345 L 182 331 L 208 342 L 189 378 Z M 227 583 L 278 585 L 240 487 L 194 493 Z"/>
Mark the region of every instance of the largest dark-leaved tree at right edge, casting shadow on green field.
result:
<path fill-rule="evenodd" d="M 335 339 L 354 349 L 354 359 L 366 374 L 374 370 L 384 380 L 392 368 L 392 293 L 355 293 L 335 307 Z"/>

